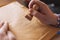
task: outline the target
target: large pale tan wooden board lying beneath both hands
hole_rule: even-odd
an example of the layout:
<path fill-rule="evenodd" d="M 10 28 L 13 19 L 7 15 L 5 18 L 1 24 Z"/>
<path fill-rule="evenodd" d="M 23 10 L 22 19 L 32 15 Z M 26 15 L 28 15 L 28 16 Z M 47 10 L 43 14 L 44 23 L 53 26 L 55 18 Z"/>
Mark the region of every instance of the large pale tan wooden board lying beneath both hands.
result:
<path fill-rule="evenodd" d="M 0 21 L 9 22 L 17 40 L 50 40 L 56 34 L 57 28 L 44 25 L 35 17 L 26 19 L 28 13 L 26 7 L 14 1 L 0 8 Z"/>

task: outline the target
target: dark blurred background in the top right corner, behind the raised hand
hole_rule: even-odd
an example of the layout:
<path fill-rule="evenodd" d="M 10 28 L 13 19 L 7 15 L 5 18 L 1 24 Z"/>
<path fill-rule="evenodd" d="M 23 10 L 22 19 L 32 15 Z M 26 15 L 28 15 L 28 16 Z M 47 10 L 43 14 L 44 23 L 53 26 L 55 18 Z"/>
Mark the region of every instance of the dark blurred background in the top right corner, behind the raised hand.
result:
<path fill-rule="evenodd" d="M 60 14 L 60 0 L 41 0 L 46 4 L 54 4 L 55 6 L 49 6 L 50 9 L 57 14 Z"/>

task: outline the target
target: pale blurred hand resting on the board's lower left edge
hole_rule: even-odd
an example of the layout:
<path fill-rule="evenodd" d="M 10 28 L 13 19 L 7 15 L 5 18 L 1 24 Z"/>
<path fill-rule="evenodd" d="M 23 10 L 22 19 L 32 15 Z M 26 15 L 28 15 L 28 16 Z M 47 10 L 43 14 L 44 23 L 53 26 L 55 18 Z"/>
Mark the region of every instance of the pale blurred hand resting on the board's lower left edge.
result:
<path fill-rule="evenodd" d="M 0 22 L 0 40 L 16 40 L 12 32 L 8 31 L 8 23 Z"/>

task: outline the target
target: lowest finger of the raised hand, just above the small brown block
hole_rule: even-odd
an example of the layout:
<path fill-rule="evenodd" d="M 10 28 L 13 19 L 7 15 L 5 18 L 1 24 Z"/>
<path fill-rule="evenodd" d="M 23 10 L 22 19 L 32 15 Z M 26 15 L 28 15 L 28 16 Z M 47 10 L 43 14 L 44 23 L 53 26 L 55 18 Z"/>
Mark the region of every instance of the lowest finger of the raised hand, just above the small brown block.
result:
<path fill-rule="evenodd" d="M 39 21 L 46 24 L 46 16 L 43 15 L 42 13 L 40 13 L 36 10 L 33 10 L 33 12 L 31 12 L 31 15 L 35 16 L 37 19 L 39 19 Z"/>

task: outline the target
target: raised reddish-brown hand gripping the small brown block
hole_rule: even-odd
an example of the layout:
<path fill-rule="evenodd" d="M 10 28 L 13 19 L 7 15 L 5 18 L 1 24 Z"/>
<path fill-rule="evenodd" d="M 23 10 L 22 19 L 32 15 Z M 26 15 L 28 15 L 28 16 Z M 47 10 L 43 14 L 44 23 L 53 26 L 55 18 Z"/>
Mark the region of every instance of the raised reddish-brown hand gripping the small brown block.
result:
<path fill-rule="evenodd" d="M 33 6 L 37 4 L 39 7 L 39 11 L 34 10 Z M 57 16 L 49 9 L 48 5 L 39 1 L 39 0 L 31 0 L 29 3 L 29 10 L 31 15 L 35 16 L 44 24 L 57 24 Z"/>

